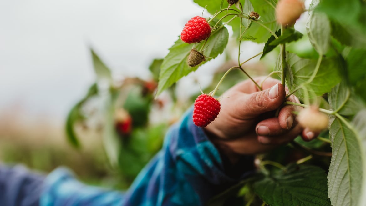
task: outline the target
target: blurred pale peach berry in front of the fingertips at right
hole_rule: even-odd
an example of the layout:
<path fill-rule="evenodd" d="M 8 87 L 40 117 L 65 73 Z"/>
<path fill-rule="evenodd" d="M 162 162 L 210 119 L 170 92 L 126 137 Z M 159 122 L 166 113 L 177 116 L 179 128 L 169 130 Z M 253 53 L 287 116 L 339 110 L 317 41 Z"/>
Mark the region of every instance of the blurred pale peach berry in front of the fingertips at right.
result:
<path fill-rule="evenodd" d="M 319 112 L 314 106 L 302 109 L 296 120 L 302 127 L 307 127 L 314 132 L 325 130 L 329 124 L 328 115 Z"/>

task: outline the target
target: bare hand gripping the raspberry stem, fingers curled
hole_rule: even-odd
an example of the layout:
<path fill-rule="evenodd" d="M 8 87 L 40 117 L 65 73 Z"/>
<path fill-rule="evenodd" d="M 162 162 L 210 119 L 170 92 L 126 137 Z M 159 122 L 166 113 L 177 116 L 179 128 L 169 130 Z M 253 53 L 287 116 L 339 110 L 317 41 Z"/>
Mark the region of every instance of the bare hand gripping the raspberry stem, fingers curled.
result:
<path fill-rule="evenodd" d="M 318 135 L 297 124 L 294 111 L 300 109 L 298 106 L 281 107 L 284 101 L 299 100 L 294 95 L 285 100 L 288 90 L 279 80 L 254 80 L 258 84 L 264 80 L 262 91 L 249 79 L 231 87 L 222 95 L 219 115 L 204 128 L 211 142 L 233 163 L 241 155 L 265 153 L 298 135 L 306 141 Z"/>

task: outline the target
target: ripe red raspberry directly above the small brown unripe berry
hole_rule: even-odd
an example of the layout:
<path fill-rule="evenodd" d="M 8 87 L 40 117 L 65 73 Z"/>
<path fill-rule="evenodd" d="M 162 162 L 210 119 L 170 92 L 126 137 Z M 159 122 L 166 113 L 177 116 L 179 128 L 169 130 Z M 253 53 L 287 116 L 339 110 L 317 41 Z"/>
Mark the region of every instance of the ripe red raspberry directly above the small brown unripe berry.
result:
<path fill-rule="evenodd" d="M 206 19 L 201 16 L 195 16 L 184 25 L 180 39 L 191 44 L 205 40 L 210 34 L 211 27 Z"/>

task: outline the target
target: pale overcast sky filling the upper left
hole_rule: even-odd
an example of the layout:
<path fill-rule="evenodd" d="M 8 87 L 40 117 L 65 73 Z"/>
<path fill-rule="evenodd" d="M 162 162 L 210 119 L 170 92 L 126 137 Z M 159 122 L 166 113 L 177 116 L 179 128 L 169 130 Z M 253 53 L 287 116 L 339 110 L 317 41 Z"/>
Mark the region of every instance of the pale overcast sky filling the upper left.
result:
<path fill-rule="evenodd" d="M 115 72 L 146 77 L 201 13 L 191 0 L 0 0 L 0 110 L 20 101 L 65 116 L 94 81 L 89 46 Z"/>

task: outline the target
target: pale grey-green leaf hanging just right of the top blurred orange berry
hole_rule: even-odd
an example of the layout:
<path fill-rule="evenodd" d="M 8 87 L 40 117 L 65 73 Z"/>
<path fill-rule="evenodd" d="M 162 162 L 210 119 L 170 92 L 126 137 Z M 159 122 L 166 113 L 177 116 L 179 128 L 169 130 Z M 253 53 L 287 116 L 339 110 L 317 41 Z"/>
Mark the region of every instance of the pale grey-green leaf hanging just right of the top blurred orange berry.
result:
<path fill-rule="evenodd" d="M 312 2 L 311 8 L 317 3 Z M 328 16 L 317 11 L 310 11 L 306 22 L 306 31 L 311 45 L 320 54 L 325 54 L 329 49 L 331 27 Z"/>

